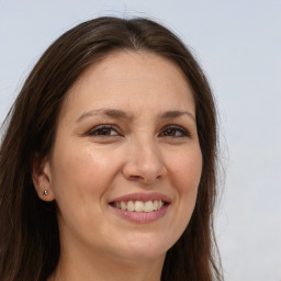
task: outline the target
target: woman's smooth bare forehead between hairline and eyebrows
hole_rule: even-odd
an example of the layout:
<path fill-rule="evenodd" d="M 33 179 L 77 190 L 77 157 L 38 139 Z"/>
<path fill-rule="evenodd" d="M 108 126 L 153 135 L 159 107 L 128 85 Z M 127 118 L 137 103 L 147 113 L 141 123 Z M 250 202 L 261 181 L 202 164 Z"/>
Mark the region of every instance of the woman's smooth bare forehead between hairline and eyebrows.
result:
<path fill-rule="evenodd" d="M 112 53 L 88 67 L 67 92 L 61 114 L 99 108 L 133 113 L 195 110 L 192 89 L 179 66 L 145 52 Z"/>

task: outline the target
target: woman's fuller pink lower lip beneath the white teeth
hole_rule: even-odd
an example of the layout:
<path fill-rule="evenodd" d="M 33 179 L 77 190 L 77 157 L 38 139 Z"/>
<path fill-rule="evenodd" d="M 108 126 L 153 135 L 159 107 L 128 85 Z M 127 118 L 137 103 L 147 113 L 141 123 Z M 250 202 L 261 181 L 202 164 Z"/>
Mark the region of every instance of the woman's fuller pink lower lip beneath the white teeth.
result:
<path fill-rule="evenodd" d="M 165 216 L 167 210 L 168 210 L 168 204 L 162 206 L 160 210 L 156 210 L 153 212 L 130 212 L 127 210 L 121 210 L 117 207 L 113 207 L 113 210 L 115 211 L 115 213 L 117 213 L 119 215 L 121 215 L 122 217 L 134 222 L 134 223 L 139 223 L 139 224 L 145 224 L 145 223 L 151 223 L 155 222 L 159 218 L 161 218 L 162 216 Z"/>

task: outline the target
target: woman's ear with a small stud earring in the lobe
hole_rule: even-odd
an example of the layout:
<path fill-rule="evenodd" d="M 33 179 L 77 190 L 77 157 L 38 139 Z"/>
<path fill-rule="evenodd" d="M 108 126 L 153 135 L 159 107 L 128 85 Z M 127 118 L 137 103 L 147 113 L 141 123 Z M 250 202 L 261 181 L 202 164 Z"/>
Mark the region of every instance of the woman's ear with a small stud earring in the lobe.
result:
<path fill-rule="evenodd" d="M 47 158 L 42 159 L 37 153 L 34 155 L 32 161 L 32 180 L 41 200 L 47 202 L 55 200 L 52 189 L 49 161 Z"/>

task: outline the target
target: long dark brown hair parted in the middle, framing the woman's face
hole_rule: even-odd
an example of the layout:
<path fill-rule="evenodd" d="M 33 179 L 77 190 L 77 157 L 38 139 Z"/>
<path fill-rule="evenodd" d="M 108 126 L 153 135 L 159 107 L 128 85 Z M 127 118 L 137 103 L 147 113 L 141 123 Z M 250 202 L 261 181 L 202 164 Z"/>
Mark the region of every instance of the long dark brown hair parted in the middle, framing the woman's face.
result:
<path fill-rule="evenodd" d="M 162 281 L 223 280 L 213 235 L 217 127 L 214 99 L 200 66 L 166 27 L 146 19 L 99 18 L 61 35 L 26 79 L 4 126 L 0 149 L 0 280 L 45 280 L 59 259 L 55 203 L 36 195 L 34 155 L 50 150 L 67 90 L 114 50 L 145 50 L 176 63 L 193 89 L 203 171 L 192 218 L 167 252 Z"/>

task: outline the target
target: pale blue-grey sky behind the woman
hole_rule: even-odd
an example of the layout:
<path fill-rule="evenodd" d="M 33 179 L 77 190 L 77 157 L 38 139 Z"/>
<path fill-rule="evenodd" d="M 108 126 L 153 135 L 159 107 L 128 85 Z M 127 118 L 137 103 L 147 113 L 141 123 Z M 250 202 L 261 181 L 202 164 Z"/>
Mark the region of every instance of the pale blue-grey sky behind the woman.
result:
<path fill-rule="evenodd" d="M 0 0 L 0 123 L 48 45 L 100 15 L 148 16 L 190 46 L 217 100 L 226 281 L 281 281 L 281 0 Z"/>

